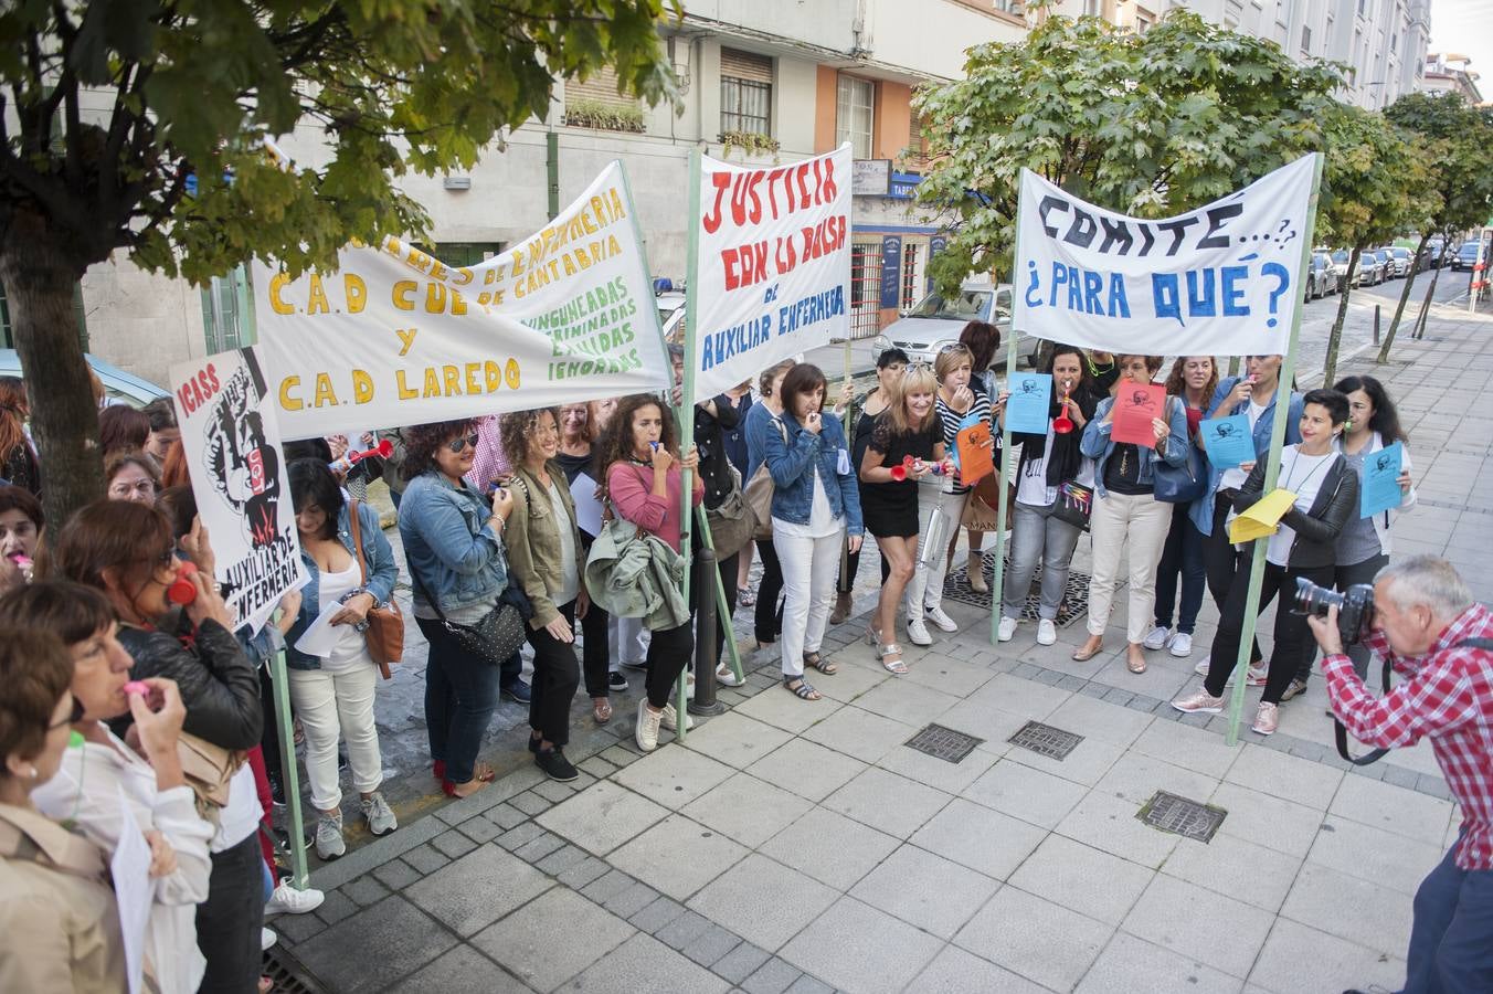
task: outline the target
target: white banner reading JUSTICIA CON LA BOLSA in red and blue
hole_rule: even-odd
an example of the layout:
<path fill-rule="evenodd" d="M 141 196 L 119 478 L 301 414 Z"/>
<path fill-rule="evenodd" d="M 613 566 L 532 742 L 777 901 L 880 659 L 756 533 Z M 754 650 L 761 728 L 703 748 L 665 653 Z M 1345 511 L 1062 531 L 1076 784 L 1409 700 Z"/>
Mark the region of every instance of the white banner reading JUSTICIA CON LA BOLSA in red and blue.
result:
<path fill-rule="evenodd" d="M 691 218 L 694 398 L 850 334 L 851 155 L 772 169 L 702 158 Z"/>

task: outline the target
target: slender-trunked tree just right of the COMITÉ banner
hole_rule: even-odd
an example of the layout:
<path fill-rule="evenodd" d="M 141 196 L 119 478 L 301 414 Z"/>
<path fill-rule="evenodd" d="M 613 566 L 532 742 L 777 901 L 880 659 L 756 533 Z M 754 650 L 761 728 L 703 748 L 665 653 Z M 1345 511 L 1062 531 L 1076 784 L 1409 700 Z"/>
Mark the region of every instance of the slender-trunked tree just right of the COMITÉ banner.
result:
<path fill-rule="evenodd" d="M 1420 231 L 1439 209 L 1441 197 L 1432 187 L 1433 149 L 1411 145 L 1383 113 L 1336 104 L 1324 130 L 1327 161 L 1317 207 L 1318 231 L 1320 237 L 1330 236 L 1350 249 L 1323 364 L 1323 382 L 1332 384 L 1359 254 L 1400 231 Z"/>

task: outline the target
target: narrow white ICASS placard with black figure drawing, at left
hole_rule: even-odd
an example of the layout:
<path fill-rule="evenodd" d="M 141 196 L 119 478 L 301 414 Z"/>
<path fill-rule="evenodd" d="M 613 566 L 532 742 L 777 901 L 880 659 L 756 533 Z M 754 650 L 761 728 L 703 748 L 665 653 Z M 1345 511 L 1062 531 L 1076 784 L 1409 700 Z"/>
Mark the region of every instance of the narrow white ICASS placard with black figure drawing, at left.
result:
<path fill-rule="evenodd" d="M 254 349 L 172 366 L 197 516 L 233 625 L 257 631 L 306 582 L 275 404 Z"/>

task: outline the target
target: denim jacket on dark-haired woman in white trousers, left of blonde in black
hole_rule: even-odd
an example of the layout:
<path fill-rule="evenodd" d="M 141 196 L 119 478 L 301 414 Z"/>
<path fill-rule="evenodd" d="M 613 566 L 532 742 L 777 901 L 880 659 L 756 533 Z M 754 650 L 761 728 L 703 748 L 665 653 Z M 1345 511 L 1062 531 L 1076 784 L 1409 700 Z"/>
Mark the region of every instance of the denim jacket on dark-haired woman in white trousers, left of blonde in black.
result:
<path fill-rule="evenodd" d="M 784 415 L 782 427 L 787 440 L 769 419 L 754 425 L 754 448 L 763 454 L 763 463 L 772 473 L 772 516 L 790 524 L 808 524 L 814 506 L 814 467 L 818 467 L 824 496 L 830 512 L 844 516 L 850 534 L 863 534 L 860 516 L 860 490 L 855 482 L 855 466 L 850 458 L 845 430 L 839 418 L 821 415 L 823 428 L 818 434 L 805 431 L 796 418 Z M 839 472 L 844 458 L 847 470 Z"/>

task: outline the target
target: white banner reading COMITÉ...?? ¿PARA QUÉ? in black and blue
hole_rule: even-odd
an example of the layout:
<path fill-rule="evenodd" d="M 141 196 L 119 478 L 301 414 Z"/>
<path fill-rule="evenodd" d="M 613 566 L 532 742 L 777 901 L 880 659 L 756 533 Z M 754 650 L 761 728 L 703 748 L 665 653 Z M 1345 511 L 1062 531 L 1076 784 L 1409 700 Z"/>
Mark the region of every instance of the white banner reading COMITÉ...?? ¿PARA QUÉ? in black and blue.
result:
<path fill-rule="evenodd" d="M 1312 155 L 1206 207 L 1127 218 L 1021 170 L 1012 327 L 1150 355 L 1285 352 Z"/>

